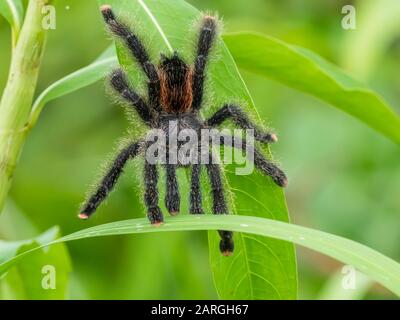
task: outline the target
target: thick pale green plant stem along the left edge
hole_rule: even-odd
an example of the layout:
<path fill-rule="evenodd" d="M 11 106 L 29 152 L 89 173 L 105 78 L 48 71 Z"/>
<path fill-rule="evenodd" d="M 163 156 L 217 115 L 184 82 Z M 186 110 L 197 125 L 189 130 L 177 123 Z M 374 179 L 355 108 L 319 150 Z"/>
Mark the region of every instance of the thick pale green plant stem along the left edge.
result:
<path fill-rule="evenodd" d="M 28 131 L 26 123 L 46 43 L 42 8 L 48 3 L 49 0 L 29 1 L 0 101 L 0 210 Z"/>

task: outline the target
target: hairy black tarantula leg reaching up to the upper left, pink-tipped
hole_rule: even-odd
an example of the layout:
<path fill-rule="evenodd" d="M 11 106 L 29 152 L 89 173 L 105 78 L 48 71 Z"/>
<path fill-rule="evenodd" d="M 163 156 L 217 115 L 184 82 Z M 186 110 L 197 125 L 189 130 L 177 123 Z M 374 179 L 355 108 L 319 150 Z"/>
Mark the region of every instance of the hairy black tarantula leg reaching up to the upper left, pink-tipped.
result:
<path fill-rule="evenodd" d="M 150 105 L 155 110 L 160 110 L 160 79 L 157 69 L 151 63 L 149 55 L 139 38 L 125 24 L 121 23 L 115 17 L 110 5 L 103 5 L 101 12 L 104 21 L 108 25 L 110 31 L 124 40 L 126 46 L 142 67 L 144 73 L 149 79 L 148 94 Z"/>

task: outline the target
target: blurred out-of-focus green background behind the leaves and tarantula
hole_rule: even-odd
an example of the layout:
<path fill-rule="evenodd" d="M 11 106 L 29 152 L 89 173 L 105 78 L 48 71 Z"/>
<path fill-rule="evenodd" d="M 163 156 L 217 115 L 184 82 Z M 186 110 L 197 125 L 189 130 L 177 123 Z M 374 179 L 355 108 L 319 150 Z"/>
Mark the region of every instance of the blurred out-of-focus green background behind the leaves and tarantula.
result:
<path fill-rule="evenodd" d="M 400 113 L 397 0 L 189 2 L 218 12 L 226 32 L 258 31 L 314 50 L 367 82 Z M 341 27 L 346 4 L 356 6 L 357 30 Z M 57 29 L 49 32 L 38 93 L 110 45 L 96 1 L 57 0 L 56 7 Z M 11 50 L 3 18 L 0 44 L 2 91 Z M 398 146 L 319 100 L 242 74 L 261 117 L 279 133 L 272 149 L 290 178 L 286 194 L 292 222 L 354 239 L 399 260 Z M 127 126 L 102 82 L 51 102 L 24 147 L 0 216 L 0 238 L 30 238 L 54 225 L 69 234 L 143 217 L 131 166 L 90 221 L 76 218 L 88 186 Z M 73 299 L 217 298 L 205 232 L 88 239 L 69 243 L 68 249 Z M 300 298 L 318 298 L 341 264 L 305 249 L 297 252 Z M 377 285 L 361 296 L 393 298 Z"/>

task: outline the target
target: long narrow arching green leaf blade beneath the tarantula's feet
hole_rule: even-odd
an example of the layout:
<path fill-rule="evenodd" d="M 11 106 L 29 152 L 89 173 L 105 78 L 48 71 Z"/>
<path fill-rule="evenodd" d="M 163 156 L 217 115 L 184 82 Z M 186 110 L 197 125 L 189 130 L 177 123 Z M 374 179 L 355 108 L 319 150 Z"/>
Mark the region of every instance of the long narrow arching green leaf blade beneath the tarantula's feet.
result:
<path fill-rule="evenodd" d="M 400 296 L 400 264 L 398 262 L 353 240 L 286 222 L 253 216 L 182 215 L 167 217 L 160 227 L 150 225 L 145 218 L 131 219 L 81 230 L 47 245 L 111 235 L 219 229 L 281 239 L 315 250 L 344 264 L 354 266 Z M 0 264 L 0 275 L 40 248 L 24 252 L 7 261 L 3 260 L 4 262 Z"/>

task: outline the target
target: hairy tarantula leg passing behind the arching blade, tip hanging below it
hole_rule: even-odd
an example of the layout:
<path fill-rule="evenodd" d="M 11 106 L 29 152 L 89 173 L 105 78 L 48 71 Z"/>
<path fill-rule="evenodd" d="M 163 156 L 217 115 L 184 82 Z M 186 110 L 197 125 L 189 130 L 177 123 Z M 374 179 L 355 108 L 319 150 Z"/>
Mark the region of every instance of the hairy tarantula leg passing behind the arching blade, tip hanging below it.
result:
<path fill-rule="evenodd" d="M 210 156 L 210 158 L 212 157 Z M 212 163 L 212 159 L 210 159 L 209 162 L 210 163 L 206 164 L 206 167 L 211 183 L 211 193 L 213 197 L 213 214 L 228 214 L 228 208 L 226 205 L 221 179 L 221 169 L 218 164 Z M 234 249 L 233 232 L 218 230 L 218 233 L 221 237 L 219 250 L 224 256 L 231 255 Z"/>

